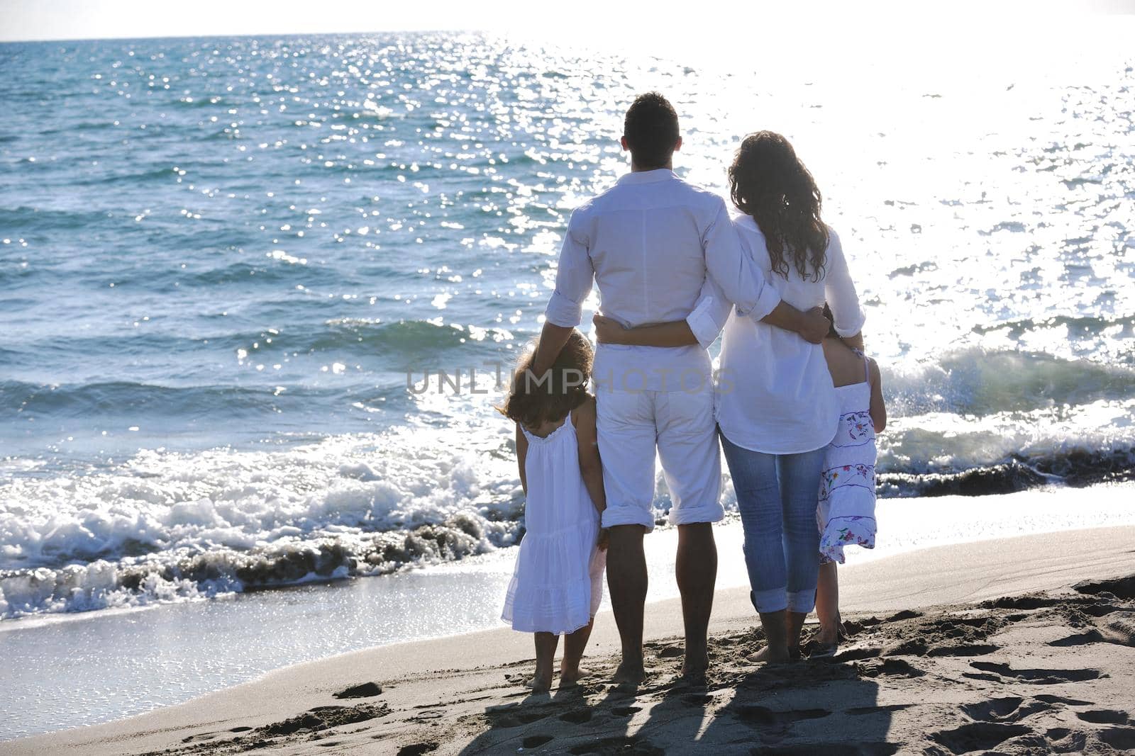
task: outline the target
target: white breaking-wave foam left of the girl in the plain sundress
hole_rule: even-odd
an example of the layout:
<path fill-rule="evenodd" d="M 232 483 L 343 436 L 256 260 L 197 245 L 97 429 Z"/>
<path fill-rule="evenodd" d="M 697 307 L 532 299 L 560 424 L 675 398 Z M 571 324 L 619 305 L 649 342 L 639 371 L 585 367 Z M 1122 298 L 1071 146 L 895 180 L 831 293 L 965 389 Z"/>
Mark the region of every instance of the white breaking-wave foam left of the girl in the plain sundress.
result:
<path fill-rule="evenodd" d="M 276 451 L 141 451 L 86 476 L 15 478 L 0 615 L 193 600 L 511 544 L 507 436 L 337 436 Z"/>

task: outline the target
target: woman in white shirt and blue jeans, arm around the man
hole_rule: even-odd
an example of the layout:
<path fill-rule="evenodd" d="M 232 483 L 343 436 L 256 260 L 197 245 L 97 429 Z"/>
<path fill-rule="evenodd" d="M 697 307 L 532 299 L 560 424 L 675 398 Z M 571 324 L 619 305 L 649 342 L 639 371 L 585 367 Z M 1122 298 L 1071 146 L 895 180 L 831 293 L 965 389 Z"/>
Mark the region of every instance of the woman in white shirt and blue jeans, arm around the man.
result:
<path fill-rule="evenodd" d="M 745 137 L 729 184 L 743 213 L 734 219 L 741 241 L 781 298 L 801 311 L 826 301 L 835 331 L 861 345 L 864 315 L 843 249 L 821 219 L 819 189 L 788 139 L 773 131 Z M 817 491 L 840 417 L 823 348 L 738 315 L 712 280 L 684 322 L 627 330 L 599 316 L 596 335 L 708 345 L 723 322 L 716 416 L 745 529 L 751 600 L 768 642 L 755 661 L 781 662 L 799 655 L 800 630 L 815 606 Z"/>

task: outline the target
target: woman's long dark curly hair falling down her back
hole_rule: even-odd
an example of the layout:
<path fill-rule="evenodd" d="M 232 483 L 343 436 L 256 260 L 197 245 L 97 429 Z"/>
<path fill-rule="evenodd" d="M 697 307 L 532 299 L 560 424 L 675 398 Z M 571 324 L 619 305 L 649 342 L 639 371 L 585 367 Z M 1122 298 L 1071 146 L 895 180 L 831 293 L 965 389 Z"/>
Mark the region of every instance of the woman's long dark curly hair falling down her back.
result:
<path fill-rule="evenodd" d="M 827 264 L 827 227 L 819 218 L 823 198 L 796 150 L 775 131 L 757 131 L 741 142 L 729 167 L 729 194 L 765 235 L 773 271 L 788 278 L 789 265 L 818 281 Z"/>

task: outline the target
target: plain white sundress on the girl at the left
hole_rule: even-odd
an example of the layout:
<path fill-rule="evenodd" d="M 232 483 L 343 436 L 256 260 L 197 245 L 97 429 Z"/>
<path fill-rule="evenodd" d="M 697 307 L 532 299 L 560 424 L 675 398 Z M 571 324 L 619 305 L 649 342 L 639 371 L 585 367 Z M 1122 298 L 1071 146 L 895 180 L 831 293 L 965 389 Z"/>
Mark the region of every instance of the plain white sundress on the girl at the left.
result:
<path fill-rule="evenodd" d="M 523 632 L 574 632 L 603 600 L 599 513 L 579 472 L 572 416 L 543 439 L 521 431 L 528 439 L 526 530 L 501 619 Z"/>

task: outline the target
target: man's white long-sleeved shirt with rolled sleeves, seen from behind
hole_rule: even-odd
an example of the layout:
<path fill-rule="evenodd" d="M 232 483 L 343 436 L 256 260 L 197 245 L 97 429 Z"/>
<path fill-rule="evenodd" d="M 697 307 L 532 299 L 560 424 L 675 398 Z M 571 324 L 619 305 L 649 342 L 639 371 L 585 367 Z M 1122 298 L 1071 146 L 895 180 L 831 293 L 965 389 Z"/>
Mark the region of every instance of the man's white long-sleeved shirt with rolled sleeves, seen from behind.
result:
<path fill-rule="evenodd" d="M 545 316 L 555 325 L 579 325 L 583 300 L 598 283 L 603 314 L 628 328 L 686 320 L 707 278 L 753 317 L 780 303 L 745 253 L 721 197 L 670 169 L 631 172 L 572 213 Z M 707 346 L 599 345 L 597 389 L 690 391 L 696 374 L 708 380 Z"/>

